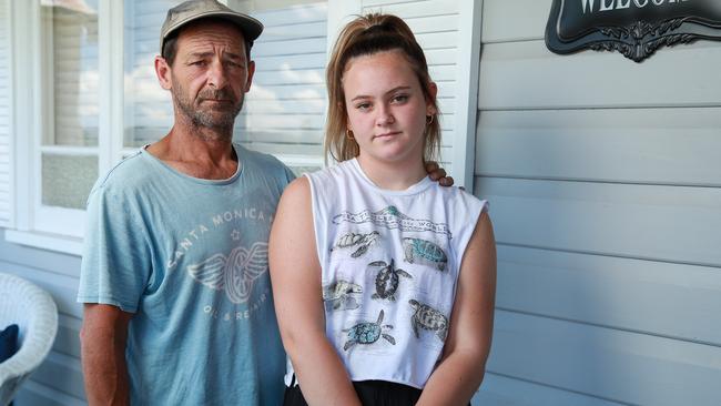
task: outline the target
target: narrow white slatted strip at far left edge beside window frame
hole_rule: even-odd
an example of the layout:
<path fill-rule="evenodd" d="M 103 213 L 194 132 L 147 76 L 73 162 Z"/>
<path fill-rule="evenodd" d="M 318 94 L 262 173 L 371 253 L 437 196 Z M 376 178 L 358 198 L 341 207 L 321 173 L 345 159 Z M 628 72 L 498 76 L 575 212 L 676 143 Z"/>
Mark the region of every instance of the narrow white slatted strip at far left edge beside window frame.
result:
<path fill-rule="evenodd" d="M 0 55 L 10 54 L 10 2 L 0 0 Z M 0 58 L 0 226 L 11 225 L 12 89 L 10 58 Z"/>

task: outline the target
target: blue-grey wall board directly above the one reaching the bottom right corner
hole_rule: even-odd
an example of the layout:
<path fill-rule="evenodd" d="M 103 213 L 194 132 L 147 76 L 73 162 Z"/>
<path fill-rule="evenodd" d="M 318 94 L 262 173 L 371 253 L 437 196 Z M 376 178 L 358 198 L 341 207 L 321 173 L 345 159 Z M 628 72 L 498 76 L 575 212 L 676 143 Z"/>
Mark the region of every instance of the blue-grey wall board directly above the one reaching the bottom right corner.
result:
<path fill-rule="evenodd" d="M 721 347 L 715 267 L 500 245 L 498 270 L 498 308 Z"/>

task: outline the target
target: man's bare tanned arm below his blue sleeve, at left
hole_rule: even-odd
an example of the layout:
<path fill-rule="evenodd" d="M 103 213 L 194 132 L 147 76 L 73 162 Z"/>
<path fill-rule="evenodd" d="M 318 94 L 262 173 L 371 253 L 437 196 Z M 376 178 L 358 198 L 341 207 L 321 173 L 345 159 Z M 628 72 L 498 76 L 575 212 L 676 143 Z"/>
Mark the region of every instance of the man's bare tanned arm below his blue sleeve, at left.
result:
<path fill-rule="evenodd" d="M 132 313 L 87 303 L 80 331 L 82 372 L 89 405 L 129 405 L 125 343 Z"/>

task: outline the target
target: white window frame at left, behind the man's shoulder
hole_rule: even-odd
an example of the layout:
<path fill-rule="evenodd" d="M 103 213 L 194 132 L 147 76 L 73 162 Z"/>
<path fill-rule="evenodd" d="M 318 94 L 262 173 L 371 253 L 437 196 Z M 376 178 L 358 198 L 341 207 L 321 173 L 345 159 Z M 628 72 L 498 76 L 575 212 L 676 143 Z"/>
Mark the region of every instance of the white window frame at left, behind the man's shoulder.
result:
<path fill-rule="evenodd" d="M 41 0 L 11 2 L 11 52 L 13 74 L 12 105 L 16 106 L 13 224 L 6 230 L 6 240 L 34 247 L 80 254 L 84 234 L 85 211 L 42 204 L 42 155 L 92 155 L 98 158 L 98 173 L 104 173 L 123 156 L 123 3 L 98 1 L 98 71 L 102 78 L 98 89 L 98 146 L 43 145 L 43 135 L 54 131 L 53 71 L 42 69 L 52 58 L 52 30 Z M 52 21 L 50 22 L 52 23 Z M 17 50 L 29 50 L 18 52 Z M 52 64 L 47 64 L 52 65 Z M 27 69 L 27 67 L 33 67 Z M 23 91 L 24 90 L 24 91 Z M 120 112 L 120 113 L 119 113 Z M 42 120 L 35 120 L 37 115 Z M 120 134 L 120 138 L 118 136 Z"/>

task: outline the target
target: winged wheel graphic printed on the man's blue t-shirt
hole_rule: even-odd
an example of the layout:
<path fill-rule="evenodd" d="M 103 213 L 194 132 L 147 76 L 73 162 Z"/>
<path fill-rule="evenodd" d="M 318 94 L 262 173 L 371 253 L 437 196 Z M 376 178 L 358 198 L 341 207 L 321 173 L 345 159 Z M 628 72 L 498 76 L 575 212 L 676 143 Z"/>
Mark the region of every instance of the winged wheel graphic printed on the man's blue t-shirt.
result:
<path fill-rule="evenodd" d="M 250 248 L 237 246 L 229 256 L 215 254 L 197 264 L 189 265 L 187 273 L 203 285 L 225 290 L 233 303 L 244 303 L 251 296 L 255 280 L 267 272 L 267 243 L 254 243 Z"/>

